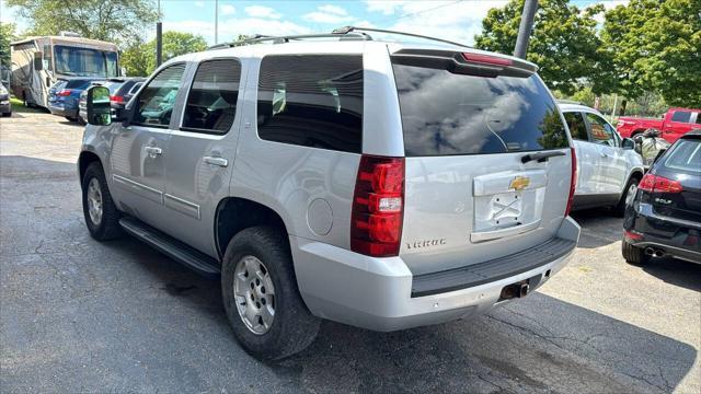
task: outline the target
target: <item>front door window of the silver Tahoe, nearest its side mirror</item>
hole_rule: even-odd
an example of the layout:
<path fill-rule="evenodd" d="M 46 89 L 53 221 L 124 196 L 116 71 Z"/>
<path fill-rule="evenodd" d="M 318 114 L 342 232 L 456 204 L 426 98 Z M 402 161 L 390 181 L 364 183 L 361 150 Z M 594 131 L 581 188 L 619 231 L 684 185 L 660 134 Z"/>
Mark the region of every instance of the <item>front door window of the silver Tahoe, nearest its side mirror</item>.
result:
<path fill-rule="evenodd" d="M 173 65 L 161 70 L 146 85 L 137 101 L 134 124 L 166 128 L 171 123 L 175 97 L 185 65 Z"/>

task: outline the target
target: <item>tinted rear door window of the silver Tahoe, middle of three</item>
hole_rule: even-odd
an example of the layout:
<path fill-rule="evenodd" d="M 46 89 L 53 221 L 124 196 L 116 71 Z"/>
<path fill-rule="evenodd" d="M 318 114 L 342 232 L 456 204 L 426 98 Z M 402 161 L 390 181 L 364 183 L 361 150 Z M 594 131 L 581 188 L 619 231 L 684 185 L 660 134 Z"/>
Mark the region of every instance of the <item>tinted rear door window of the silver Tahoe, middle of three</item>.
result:
<path fill-rule="evenodd" d="M 241 63 L 234 59 L 203 61 L 187 96 L 182 129 L 226 134 L 233 125 Z"/>

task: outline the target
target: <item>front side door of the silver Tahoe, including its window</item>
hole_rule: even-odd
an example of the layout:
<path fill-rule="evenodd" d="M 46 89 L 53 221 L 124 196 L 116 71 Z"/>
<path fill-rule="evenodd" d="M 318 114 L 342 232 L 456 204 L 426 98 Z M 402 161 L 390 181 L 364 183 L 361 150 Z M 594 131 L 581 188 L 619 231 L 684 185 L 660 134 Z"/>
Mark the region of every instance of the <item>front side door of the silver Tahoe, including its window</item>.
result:
<path fill-rule="evenodd" d="M 124 211 L 159 228 L 171 118 L 184 71 L 185 63 L 158 71 L 131 103 L 131 123 L 116 127 L 112 142 L 114 197 Z"/>

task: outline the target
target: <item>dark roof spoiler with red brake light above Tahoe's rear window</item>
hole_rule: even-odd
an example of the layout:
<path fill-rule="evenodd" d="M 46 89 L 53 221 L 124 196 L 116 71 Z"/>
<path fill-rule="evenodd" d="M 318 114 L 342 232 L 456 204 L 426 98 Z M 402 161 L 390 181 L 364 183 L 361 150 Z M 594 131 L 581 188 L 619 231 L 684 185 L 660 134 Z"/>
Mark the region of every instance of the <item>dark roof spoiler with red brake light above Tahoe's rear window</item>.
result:
<path fill-rule="evenodd" d="M 473 51 L 401 49 L 391 55 L 392 62 L 405 66 L 448 70 L 478 77 L 498 76 L 528 78 L 538 71 L 529 61 Z"/>

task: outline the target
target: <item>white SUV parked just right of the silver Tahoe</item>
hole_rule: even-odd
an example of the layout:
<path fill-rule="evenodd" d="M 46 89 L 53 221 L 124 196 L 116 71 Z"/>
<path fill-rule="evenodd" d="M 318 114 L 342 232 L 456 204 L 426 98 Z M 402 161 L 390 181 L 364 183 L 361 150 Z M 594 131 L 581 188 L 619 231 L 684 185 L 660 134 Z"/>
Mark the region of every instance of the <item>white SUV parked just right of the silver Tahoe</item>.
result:
<path fill-rule="evenodd" d="M 635 193 L 644 167 L 635 142 L 621 138 L 598 111 L 560 103 L 577 157 L 574 208 L 613 207 L 623 215 L 625 197 Z"/>

